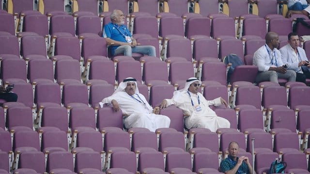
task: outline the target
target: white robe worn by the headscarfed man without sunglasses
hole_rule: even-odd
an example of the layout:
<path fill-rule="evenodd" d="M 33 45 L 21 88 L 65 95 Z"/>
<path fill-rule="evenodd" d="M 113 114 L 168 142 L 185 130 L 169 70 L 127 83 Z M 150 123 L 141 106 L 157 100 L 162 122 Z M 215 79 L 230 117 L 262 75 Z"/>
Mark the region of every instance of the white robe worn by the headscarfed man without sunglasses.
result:
<path fill-rule="evenodd" d="M 112 96 L 103 99 L 103 103 L 111 103 L 112 100 L 118 102 L 120 109 L 124 115 L 128 115 L 124 119 L 125 128 L 147 128 L 155 132 L 157 128 L 169 128 L 170 118 L 168 116 L 153 114 L 153 108 L 146 101 L 142 94 L 134 94 L 134 97 L 145 103 L 138 102 L 124 91 L 116 92 Z"/>

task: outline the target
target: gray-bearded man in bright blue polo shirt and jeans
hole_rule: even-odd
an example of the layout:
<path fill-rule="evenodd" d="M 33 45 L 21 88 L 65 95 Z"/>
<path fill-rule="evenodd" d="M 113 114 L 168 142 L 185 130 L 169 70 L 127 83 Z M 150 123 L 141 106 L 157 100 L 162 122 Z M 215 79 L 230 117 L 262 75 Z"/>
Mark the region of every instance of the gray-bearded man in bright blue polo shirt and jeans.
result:
<path fill-rule="evenodd" d="M 103 29 L 102 35 L 110 44 L 112 55 L 124 54 L 124 56 L 131 57 L 132 53 L 140 53 L 155 57 L 155 47 L 150 45 L 137 46 L 137 41 L 132 37 L 124 23 L 123 12 L 114 10 L 111 14 L 111 22 L 105 25 Z"/>

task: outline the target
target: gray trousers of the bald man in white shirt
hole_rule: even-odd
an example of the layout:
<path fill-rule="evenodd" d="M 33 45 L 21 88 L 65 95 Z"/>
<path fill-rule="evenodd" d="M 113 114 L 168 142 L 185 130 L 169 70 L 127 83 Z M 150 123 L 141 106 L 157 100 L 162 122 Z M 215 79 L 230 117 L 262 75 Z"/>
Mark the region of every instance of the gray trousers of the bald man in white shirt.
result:
<path fill-rule="evenodd" d="M 278 73 L 276 71 L 260 72 L 256 76 L 256 82 L 270 81 L 278 82 L 278 78 L 287 79 L 289 82 L 296 81 L 296 73 L 293 70 L 286 70 L 286 73 Z"/>

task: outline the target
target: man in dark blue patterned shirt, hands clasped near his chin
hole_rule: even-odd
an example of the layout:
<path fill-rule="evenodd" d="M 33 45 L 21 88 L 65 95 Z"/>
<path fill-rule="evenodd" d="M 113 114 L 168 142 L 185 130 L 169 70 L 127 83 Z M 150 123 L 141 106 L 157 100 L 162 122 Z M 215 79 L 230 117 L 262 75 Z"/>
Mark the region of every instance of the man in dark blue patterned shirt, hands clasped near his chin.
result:
<path fill-rule="evenodd" d="M 228 157 L 222 160 L 219 168 L 220 172 L 225 174 L 253 174 L 253 168 L 248 157 L 237 157 L 239 154 L 239 145 L 237 142 L 231 142 L 228 146 Z"/>

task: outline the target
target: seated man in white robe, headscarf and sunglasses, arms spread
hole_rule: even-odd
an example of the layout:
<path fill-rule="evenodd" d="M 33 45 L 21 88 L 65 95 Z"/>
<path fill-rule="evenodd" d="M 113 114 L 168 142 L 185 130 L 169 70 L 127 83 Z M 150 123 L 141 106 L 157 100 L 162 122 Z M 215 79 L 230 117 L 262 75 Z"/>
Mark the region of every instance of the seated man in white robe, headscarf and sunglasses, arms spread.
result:
<path fill-rule="evenodd" d="M 230 128 L 230 122 L 217 114 L 209 107 L 209 105 L 219 106 L 227 102 L 218 97 L 212 101 L 207 101 L 202 93 L 198 92 L 202 82 L 191 77 L 186 80 L 184 89 L 175 91 L 172 99 L 164 99 L 160 103 L 160 108 L 166 108 L 170 105 L 183 110 L 183 114 L 189 115 L 185 119 L 187 129 L 190 128 L 207 128 L 210 131 L 217 131 L 218 128 Z"/>

